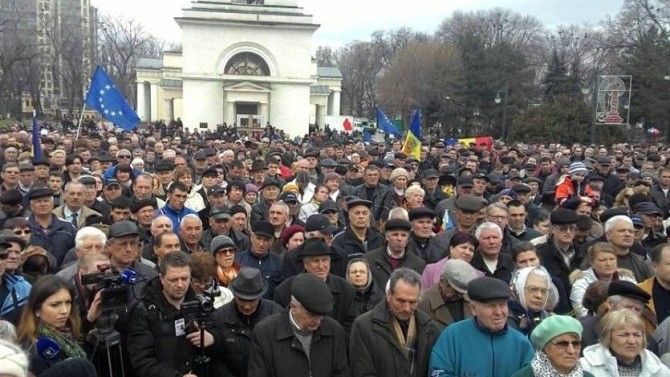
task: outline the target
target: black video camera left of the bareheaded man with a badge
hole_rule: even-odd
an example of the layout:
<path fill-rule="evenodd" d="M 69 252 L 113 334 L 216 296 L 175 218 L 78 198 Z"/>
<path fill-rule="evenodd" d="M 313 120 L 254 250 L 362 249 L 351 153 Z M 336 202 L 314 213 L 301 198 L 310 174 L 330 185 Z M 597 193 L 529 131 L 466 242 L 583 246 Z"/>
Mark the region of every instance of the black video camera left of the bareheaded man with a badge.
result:
<path fill-rule="evenodd" d="M 137 272 L 126 268 L 121 273 L 98 271 L 81 276 L 82 285 L 95 284 L 102 295 L 102 310 L 125 308 L 128 304 L 128 288 L 137 283 Z"/>

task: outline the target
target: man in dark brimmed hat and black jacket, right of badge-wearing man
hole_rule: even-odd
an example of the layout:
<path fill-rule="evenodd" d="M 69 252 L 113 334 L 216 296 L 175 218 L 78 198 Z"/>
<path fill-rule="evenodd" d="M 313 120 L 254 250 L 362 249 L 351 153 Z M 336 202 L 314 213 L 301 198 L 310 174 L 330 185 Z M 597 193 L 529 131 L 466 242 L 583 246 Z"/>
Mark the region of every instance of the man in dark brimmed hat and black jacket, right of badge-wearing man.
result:
<path fill-rule="evenodd" d="M 283 312 L 276 303 L 263 299 L 268 285 L 260 270 L 242 267 L 228 286 L 234 300 L 212 313 L 214 332 L 221 339 L 218 357 L 213 358 L 215 376 L 246 377 L 251 334 L 263 319 Z"/>

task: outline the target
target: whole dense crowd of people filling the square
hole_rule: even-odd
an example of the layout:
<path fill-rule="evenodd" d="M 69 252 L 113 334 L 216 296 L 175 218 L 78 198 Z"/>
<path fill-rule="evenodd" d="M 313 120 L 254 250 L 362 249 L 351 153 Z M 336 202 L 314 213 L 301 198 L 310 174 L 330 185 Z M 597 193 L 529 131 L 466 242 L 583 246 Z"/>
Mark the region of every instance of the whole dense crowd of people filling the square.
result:
<path fill-rule="evenodd" d="M 670 148 L 0 135 L 0 375 L 670 376 Z"/>

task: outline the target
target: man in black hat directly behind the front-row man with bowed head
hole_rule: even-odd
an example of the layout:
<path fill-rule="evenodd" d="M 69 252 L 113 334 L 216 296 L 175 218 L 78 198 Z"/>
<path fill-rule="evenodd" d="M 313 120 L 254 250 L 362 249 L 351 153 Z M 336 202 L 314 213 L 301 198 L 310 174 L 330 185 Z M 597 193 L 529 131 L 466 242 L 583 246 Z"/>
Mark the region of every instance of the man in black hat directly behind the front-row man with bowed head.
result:
<path fill-rule="evenodd" d="M 315 275 L 326 282 L 333 295 L 333 310 L 330 317 L 339 322 L 346 332 L 351 330 L 355 314 L 351 311 L 354 305 L 354 288 L 344 278 L 330 273 L 332 252 L 326 242 L 320 238 L 310 238 L 300 248 L 298 254 L 303 271 Z M 282 307 L 291 302 L 291 284 L 295 276 L 284 280 L 275 290 L 274 301 Z"/>

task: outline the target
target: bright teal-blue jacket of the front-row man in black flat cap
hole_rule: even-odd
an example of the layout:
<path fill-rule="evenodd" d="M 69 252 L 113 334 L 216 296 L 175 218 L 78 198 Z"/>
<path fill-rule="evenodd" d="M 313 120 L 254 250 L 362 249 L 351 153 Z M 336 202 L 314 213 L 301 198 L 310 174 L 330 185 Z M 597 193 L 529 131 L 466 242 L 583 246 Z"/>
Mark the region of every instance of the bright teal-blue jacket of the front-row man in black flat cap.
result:
<path fill-rule="evenodd" d="M 510 377 L 530 363 L 535 351 L 523 334 L 506 327 L 496 333 L 479 326 L 476 317 L 447 327 L 430 355 L 432 377 Z"/>

